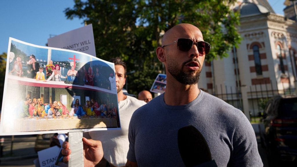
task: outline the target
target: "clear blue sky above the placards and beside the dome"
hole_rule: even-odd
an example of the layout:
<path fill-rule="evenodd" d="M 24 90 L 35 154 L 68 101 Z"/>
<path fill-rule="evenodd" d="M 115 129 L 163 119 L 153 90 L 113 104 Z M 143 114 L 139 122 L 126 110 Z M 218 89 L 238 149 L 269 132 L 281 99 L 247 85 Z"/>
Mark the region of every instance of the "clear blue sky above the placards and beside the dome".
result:
<path fill-rule="evenodd" d="M 284 1 L 268 0 L 274 11 L 282 15 Z M 65 17 L 63 11 L 73 5 L 73 0 L 0 0 L 0 54 L 7 53 L 9 37 L 45 46 L 50 34 L 82 27 L 82 20 Z"/>

